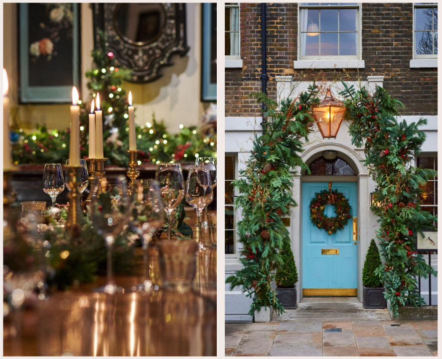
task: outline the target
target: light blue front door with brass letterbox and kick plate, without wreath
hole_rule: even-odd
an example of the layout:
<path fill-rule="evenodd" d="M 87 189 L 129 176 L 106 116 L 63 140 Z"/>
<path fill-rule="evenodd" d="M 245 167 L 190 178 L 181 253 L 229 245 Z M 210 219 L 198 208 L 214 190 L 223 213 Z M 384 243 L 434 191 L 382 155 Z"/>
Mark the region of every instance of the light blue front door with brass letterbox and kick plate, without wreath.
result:
<path fill-rule="evenodd" d="M 302 184 L 302 293 L 304 296 L 357 295 L 357 242 L 353 240 L 353 218 L 357 218 L 357 183 L 333 183 L 348 200 L 351 218 L 344 229 L 329 235 L 310 220 L 310 201 L 328 190 L 328 182 Z M 335 217 L 334 207 L 325 207 Z M 334 254 L 336 253 L 336 254 Z"/>

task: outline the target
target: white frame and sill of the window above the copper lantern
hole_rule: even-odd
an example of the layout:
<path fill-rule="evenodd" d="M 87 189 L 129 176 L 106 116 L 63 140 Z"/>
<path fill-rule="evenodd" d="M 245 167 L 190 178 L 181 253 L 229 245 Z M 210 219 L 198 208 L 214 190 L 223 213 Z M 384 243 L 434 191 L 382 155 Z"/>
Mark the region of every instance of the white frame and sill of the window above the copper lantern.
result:
<path fill-rule="evenodd" d="M 327 55 L 327 56 L 302 56 L 301 55 L 301 10 L 302 9 L 344 9 L 351 8 L 356 9 L 356 55 Z M 297 50 L 297 61 L 294 61 L 295 69 L 363 69 L 365 68 L 365 62 L 362 60 L 362 4 L 357 5 L 346 5 L 345 3 L 340 3 L 339 5 L 301 5 L 298 4 L 298 50 Z"/>

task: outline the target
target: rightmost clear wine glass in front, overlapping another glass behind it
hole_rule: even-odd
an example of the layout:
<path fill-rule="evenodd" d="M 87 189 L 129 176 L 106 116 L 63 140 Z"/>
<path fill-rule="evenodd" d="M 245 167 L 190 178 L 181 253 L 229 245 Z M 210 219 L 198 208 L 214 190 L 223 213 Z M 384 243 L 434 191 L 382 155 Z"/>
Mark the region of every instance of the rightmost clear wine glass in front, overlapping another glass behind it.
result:
<path fill-rule="evenodd" d="M 206 168 L 191 168 L 187 177 L 186 201 L 196 211 L 199 230 L 199 242 L 202 243 L 201 214 L 213 201 L 212 180 Z"/>

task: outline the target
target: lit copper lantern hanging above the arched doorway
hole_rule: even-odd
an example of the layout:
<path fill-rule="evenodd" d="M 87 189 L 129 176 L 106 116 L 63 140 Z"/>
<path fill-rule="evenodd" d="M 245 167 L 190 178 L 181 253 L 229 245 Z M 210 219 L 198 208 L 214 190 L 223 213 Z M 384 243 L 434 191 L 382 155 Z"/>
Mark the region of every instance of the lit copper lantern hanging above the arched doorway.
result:
<path fill-rule="evenodd" d="M 325 99 L 313 109 L 314 120 L 321 131 L 322 138 L 336 138 L 344 114 L 344 104 L 336 100 L 328 88 Z"/>

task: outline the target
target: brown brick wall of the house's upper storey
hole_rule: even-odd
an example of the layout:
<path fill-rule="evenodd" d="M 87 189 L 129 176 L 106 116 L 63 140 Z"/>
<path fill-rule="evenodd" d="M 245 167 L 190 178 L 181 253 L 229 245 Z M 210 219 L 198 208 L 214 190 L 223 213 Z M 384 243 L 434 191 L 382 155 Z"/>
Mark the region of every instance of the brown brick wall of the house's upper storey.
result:
<path fill-rule="evenodd" d="M 318 71 L 294 70 L 297 60 L 297 3 L 267 4 L 268 93 L 276 98 L 275 76 L 311 81 Z M 240 4 L 242 69 L 226 69 L 226 116 L 259 116 L 250 94 L 261 91 L 261 4 Z M 402 101 L 402 115 L 437 115 L 438 69 L 410 69 L 413 58 L 413 4 L 362 4 L 362 59 L 365 69 L 322 70 L 321 77 L 347 81 L 384 75 L 384 88 Z M 304 77 L 305 76 L 305 77 Z"/>

